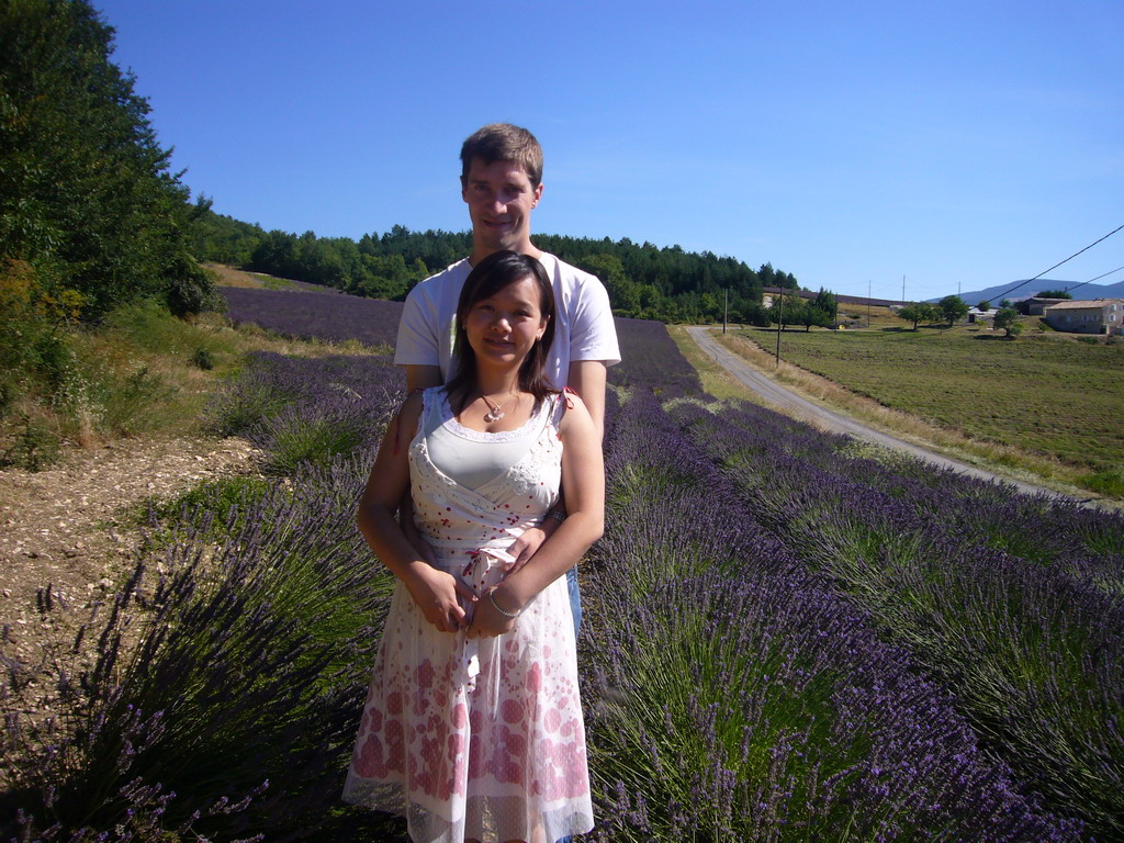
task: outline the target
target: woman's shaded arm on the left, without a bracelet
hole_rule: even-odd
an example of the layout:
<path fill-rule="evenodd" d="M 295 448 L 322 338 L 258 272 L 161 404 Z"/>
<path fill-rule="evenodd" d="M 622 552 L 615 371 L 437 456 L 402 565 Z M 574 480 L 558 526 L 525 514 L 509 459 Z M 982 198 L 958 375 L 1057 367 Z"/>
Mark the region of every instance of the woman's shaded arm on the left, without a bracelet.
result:
<path fill-rule="evenodd" d="M 457 595 L 474 600 L 472 589 L 453 574 L 423 561 L 395 517 L 402 497 L 409 491 L 406 443 L 413 437 L 409 432 L 417 429 L 420 414 L 422 396 L 410 396 L 387 426 L 355 519 L 371 550 L 402 581 L 426 620 L 442 632 L 455 632 L 468 625 Z"/>

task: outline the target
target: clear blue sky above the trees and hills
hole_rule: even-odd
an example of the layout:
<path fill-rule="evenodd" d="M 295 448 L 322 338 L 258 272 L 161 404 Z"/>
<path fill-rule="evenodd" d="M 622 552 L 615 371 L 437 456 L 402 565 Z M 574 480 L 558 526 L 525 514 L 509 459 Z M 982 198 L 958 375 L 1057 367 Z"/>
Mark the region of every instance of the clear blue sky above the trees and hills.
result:
<path fill-rule="evenodd" d="M 266 229 L 463 230 L 498 120 L 545 152 L 534 230 L 813 289 L 981 289 L 1124 225 L 1120 0 L 93 2 L 184 182 Z M 1124 232 L 1049 277 L 1122 265 Z"/>

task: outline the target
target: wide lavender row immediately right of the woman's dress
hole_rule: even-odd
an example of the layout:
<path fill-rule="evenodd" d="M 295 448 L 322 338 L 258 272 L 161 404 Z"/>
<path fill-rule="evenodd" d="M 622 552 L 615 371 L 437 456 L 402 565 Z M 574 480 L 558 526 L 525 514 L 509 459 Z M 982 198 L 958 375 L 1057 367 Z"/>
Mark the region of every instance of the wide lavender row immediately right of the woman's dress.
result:
<path fill-rule="evenodd" d="M 1078 839 L 659 405 L 617 415 L 582 650 L 595 839 Z"/>

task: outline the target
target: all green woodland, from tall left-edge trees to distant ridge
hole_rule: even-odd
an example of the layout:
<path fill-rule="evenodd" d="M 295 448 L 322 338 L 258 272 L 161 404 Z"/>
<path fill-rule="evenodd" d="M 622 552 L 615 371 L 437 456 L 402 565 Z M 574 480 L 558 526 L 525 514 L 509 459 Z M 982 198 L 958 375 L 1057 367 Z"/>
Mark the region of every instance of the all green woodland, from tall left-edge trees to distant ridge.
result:
<path fill-rule="evenodd" d="M 471 251 L 466 232 L 395 226 L 356 242 L 266 232 L 215 214 L 205 198 L 190 201 L 147 101 L 112 62 L 112 27 L 88 0 L 0 2 L 0 43 L 6 311 L 97 321 L 121 305 L 157 299 L 196 312 L 217 302 L 199 261 L 402 299 Z M 762 289 L 798 289 L 791 273 L 769 263 L 752 269 L 680 246 L 562 235 L 535 242 L 598 275 L 620 316 L 768 325 Z"/>

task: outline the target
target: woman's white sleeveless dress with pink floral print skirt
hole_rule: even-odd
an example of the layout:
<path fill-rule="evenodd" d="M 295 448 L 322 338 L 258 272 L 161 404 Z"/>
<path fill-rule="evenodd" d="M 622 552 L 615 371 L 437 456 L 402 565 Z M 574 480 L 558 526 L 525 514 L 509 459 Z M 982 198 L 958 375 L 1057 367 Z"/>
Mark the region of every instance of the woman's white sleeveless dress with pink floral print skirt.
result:
<path fill-rule="evenodd" d="M 442 388 L 423 393 L 409 448 L 415 520 L 438 566 L 463 574 L 479 595 L 502 578 L 502 551 L 558 500 L 564 404 L 552 396 L 519 430 L 488 434 L 461 426 Z M 473 490 L 430 461 L 426 430 L 434 425 L 478 442 L 511 441 L 529 427 L 533 443 Z M 438 632 L 397 583 L 344 800 L 406 816 L 410 839 L 425 843 L 553 843 L 592 828 L 564 577 L 510 632 L 471 641 Z"/>

